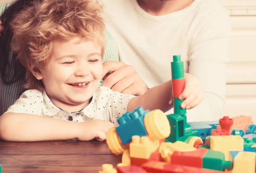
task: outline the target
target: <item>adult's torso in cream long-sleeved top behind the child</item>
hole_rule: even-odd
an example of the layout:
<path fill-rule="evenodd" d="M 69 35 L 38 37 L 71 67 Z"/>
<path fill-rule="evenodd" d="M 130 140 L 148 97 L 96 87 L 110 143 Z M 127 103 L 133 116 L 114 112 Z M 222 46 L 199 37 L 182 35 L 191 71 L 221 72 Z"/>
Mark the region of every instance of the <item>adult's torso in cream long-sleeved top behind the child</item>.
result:
<path fill-rule="evenodd" d="M 187 111 L 188 121 L 223 116 L 231 25 L 218 0 L 102 1 L 120 61 L 151 88 L 171 78 L 172 56 L 181 55 L 185 72 L 204 87 L 204 100 Z"/>

